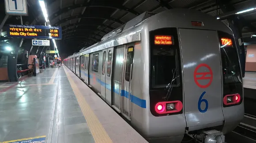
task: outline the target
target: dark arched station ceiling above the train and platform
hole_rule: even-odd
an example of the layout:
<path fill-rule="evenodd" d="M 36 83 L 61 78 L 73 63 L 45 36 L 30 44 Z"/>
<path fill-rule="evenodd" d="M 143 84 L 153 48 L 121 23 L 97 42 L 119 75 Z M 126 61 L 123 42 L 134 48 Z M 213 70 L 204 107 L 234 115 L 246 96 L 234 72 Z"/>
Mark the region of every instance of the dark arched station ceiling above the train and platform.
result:
<path fill-rule="evenodd" d="M 23 16 L 23 25 L 44 25 L 38 0 L 27 2 L 29 16 Z M 256 39 L 251 38 L 256 33 L 256 11 L 232 15 L 256 7 L 256 0 L 45 0 L 45 3 L 51 25 L 62 27 L 62 39 L 56 40 L 61 57 L 97 43 L 105 34 L 144 11 L 159 13 L 172 8 L 194 9 L 216 18 L 225 15 L 220 19 L 225 24 L 227 19 L 237 18 L 245 42 L 253 43 Z M 4 0 L 0 2 L 0 14 L 1 19 L 5 15 Z M 5 24 L 20 24 L 20 18 L 11 16 Z"/>

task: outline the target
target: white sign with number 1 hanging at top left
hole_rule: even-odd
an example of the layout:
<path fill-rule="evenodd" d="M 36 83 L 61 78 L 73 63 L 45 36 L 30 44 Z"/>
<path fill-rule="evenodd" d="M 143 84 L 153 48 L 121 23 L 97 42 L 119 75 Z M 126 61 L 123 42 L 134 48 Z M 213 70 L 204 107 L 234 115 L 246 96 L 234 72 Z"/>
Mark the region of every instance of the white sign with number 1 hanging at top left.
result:
<path fill-rule="evenodd" d="M 26 0 L 4 0 L 5 13 L 9 15 L 28 15 Z"/>

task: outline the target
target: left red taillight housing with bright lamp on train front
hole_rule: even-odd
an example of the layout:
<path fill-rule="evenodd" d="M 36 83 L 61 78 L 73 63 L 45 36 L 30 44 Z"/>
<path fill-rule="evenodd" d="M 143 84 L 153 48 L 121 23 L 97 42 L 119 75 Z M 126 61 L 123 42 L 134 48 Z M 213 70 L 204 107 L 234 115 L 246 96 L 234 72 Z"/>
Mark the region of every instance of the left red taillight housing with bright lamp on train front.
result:
<path fill-rule="evenodd" d="M 180 112 L 182 110 L 182 103 L 181 101 L 168 101 L 168 102 L 158 102 L 154 110 L 158 114 L 167 114 L 167 113 L 175 113 Z"/>

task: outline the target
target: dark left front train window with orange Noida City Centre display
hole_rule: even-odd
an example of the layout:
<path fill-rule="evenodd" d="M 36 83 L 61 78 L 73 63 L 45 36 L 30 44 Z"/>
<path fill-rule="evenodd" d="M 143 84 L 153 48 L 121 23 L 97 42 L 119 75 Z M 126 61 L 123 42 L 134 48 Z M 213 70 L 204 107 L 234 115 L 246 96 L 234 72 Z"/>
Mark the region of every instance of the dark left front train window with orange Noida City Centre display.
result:
<path fill-rule="evenodd" d="M 156 36 L 161 36 L 160 42 L 155 41 Z M 171 39 L 169 39 L 170 37 Z M 181 60 L 177 28 L 162 28 L 150 31 L 151 89 L 166 88 L 168 84 L 173 87 L 180 86 L 180 72 Z"/>

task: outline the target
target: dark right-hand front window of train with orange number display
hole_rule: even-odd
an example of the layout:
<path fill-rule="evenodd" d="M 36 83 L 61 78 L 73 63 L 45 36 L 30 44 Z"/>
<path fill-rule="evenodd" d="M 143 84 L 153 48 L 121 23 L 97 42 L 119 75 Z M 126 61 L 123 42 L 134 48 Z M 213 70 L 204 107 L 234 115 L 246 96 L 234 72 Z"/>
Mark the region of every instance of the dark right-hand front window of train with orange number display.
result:
<path fill-rule="evenodd" d="M 218 38 L 220 44 L 220 56 L 222 63 L 222 84 L 223 97 L 230 94 L 243 94 L 242 72 L 239 62 L 239 55 L 235 40 L 232 35 L 218 31 Z M 225 41 L 224 41 L 225 40 Z M 232 44 L 230 44 L 230 43 Z M 241 97 L 240 103 L 243 97 Z M 223 107 L 234 106 L 225 105 Z"/>

